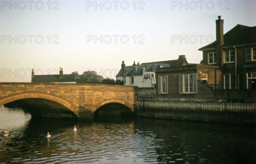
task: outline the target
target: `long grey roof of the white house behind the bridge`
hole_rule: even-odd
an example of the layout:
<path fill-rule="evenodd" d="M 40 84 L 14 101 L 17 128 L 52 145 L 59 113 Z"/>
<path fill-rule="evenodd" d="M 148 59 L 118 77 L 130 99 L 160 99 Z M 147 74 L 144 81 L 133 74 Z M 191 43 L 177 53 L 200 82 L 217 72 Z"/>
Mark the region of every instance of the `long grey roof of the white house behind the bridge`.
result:
<path fill-rule="evenodd" d="M 177 67 L 182 65 L 188 65 L 186 58 L 177 59 L 177 60 L 168 60 L 168 61 L 160 61 L 160 62 L 147 62 L 142 63 L 141 65 L 137 65 L 137 70 L 133 65 L 125 66 L 125 73 L 123 76 L 142 76 L 143 75 L 143 67 L 146 68 L 145 72 L 155 72 L 157 68 L 160 68 L 160 65 L 164 67 Z M 116 75 L 116 77 L 122 77 L 122 68 Z"/>

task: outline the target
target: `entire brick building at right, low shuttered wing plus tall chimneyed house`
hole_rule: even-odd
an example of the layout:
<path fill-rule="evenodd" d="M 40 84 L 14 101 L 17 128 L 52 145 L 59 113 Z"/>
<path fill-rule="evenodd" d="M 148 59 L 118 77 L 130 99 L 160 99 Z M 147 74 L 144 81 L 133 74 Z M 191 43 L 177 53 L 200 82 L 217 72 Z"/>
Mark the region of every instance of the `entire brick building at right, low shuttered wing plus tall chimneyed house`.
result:
<path fill-rule="evenodd" d="M 223 24 L 218 16 L 216 40 L 199 49 L 203 51 L 200 64 L 156 70 L 157 98 L 228 99 L 231 90 L 256 87 L 256 26 L 238 24 L 223 34 Z"/>

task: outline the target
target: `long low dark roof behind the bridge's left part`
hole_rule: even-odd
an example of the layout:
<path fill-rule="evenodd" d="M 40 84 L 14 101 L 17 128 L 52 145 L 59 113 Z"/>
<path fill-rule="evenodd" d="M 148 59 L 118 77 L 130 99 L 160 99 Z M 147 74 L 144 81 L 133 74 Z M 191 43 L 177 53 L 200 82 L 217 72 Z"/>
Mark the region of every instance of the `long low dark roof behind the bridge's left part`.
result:
<path fill-rule="evenodd" d="M 76 75 L 64 74 L 63 78 L 60 75 L 34 75 L 31 82 L 76 82 Z"/>

